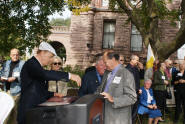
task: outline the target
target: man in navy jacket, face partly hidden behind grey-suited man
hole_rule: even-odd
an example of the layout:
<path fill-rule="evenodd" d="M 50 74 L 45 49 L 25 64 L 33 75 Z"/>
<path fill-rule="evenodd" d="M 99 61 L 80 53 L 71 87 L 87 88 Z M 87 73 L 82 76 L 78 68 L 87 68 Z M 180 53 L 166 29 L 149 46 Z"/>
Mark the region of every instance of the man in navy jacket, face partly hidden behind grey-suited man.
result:
<path fill-rule="evenodd" d="M 97 87 L 101 84 L 102 76 L 106 66 L 103 62 L 102 54 L 96 56 L 95 69 L 87 72 L 82 78 L 82 86 L 79 89 L 78 95 L 93 94 Z"/>

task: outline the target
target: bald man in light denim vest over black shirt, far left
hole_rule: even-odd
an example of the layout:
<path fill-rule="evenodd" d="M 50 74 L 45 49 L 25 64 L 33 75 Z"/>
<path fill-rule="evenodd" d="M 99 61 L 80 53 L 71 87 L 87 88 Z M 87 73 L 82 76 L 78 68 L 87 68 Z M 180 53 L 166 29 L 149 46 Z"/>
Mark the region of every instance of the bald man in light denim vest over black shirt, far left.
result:
<path fill-rule="evenodd" d="M 24 61 L 20 60 L 19 50 L 16 48 L 10 50 L 10 58 L 3 64 L 0 80 L 4 84 L 4 90 L 16 96 L 21 92 L 20 72 Z"/>

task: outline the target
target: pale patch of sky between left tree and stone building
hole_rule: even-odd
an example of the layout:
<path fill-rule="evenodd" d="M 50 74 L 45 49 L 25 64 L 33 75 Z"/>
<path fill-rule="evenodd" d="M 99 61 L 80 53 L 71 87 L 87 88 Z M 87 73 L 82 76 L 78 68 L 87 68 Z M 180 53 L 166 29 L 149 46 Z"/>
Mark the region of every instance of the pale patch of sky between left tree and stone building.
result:
<path fill-rule="evenodd" d="M 49 16 L 49 19 L 51 20 L 52 18 L 70 18 L 71 17 L 71 11 L 67 7 L 65 7 L 65 11 L 62 12 L 62 15 L 58 13 L 54 13 L 53 15 Z"/>

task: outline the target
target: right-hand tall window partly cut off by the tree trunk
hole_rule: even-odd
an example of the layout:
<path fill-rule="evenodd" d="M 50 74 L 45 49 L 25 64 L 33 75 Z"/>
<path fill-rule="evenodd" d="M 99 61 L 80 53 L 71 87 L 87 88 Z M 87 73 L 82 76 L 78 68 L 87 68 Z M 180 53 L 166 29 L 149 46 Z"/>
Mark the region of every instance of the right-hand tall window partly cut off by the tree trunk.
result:
<path fill-rule="evenodd" d="M 142 37 L 136 26 L 132 24 L 131 51 L 142 51 Z"/>

